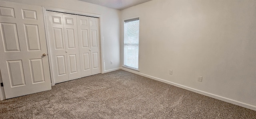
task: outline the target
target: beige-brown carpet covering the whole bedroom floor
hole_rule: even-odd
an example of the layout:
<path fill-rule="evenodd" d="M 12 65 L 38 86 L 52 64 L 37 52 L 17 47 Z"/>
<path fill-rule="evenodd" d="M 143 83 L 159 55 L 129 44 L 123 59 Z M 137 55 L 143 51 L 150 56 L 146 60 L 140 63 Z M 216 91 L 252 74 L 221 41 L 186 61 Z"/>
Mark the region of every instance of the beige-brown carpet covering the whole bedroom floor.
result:
<path fill-rule="evenodd" d="M 0 101 L 0 118 L 256 119 L 256 111 L 117 70 Z"/>

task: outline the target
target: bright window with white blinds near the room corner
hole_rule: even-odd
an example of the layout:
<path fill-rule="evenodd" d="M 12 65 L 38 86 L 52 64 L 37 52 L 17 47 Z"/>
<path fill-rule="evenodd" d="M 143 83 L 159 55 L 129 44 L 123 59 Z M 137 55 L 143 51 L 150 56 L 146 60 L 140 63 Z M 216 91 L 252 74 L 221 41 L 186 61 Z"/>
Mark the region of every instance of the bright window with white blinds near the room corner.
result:
<path fill-rule="evenodd" d="M 138 70 L 139 18 L 124 20 L 124 66 Z"/>

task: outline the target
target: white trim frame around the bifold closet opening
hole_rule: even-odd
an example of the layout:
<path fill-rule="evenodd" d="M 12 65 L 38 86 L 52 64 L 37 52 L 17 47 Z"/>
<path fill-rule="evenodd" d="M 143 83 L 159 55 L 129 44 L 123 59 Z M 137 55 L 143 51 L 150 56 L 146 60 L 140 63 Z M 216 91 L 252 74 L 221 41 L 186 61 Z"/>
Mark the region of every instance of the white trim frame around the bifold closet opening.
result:
<path fill-rule="evenodd" d="M 64 10 L 64 9 L 59 9 L 59 8 L 52 8 L 52 7 L 46 7 L 42 6 L 43 8 L 43 16 L 44 16 L 44 30 L 45 30 L 45 35 L 46 35 L 46 46 L 47 46 L 47 51 L 48 51 L 48 60 L 49 60 L 49 66 L 50 66 L 50 77 L 51 77 L 51 82 L 52 86 L 54 86 L 54 80 L 53 80 L 53 72 L 52 72 L 52 57 L 51 57 L 51 51 L 50 51 L 50 41 L 49 41 L 49 35 L 48 35 L 48 27 L 47 27 L 47 22 L 46 22 L 46 10 L 50 10 L 53 12 L 64 12 L 64 13 L 69 13 L 69 14 L 77 14 L 77 15 L 83 15 L 83 16 L 91 16 L 91 17 L 96 17 L 99 18 L 99 27 L 100 27 L 100 65 L 101 65 L 101 73 L 104 73 L 105 65 L 104 65 L 104 52 L 103 52 L 103 35 L 102 35 L 102 16 L 99 14 L 90 14 L 86 12 L 79 12 L 79 11 L 73 11 L 73 10 Z"/>

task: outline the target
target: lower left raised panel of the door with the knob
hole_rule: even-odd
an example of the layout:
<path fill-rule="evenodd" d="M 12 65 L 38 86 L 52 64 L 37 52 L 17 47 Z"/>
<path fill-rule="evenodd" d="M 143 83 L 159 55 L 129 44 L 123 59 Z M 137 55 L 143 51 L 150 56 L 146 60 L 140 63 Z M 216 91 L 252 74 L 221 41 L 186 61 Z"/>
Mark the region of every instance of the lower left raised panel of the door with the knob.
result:
<path fill-rule="evenodd" d="M 12 60 L 12 61 L 6 61 L 6 62 L 7 62 L 7 68 L 8 68 L 11 87 L 13 88 L 17 86 L 26 85 L 23 66 L 22 66 L 22 60 Z"/>

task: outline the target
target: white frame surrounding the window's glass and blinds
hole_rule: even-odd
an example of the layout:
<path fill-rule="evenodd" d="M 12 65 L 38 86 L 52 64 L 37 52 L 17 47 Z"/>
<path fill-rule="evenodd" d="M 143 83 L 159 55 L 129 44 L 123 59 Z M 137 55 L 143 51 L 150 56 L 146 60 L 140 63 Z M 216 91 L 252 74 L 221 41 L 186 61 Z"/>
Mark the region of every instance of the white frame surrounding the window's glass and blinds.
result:
<path fill-rule="evenodd" d="M 138 68 L 135 68 L 135 67 L 132 67 L 132 66 L 127 66 L 125 65 L 125 23 L 127 21 L 139 21 L 139 37 L 138 37 Z M 140 68 L 140 16 L 136 16 L 136 17 L 132 17 L 132 18 L 127 18 L 127 19 L 124 19 L 123 20 L 123 67 L 125 68 L 129 68 L 129 69 L 132 69 L 132 70 L 135 70 L 135 71 L 140 71 L 139 68 Z"/>

